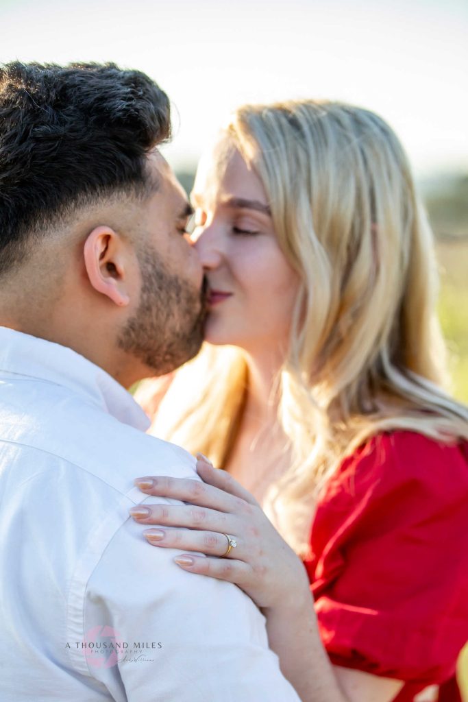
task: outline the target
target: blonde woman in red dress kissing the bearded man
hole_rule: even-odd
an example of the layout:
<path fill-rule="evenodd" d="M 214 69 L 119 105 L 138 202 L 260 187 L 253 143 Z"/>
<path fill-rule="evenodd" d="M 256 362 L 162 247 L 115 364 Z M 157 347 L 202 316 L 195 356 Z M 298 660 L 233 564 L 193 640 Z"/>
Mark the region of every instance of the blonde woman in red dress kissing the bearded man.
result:
<path fill-rule="evenodd" d="M 180 527 L 145 536 L 253 598 L 303 699 L 413 700 L 468 638 L 468 413 L 441 390 L 432 237 L 405 154 L 356 107 L 241 107 L 193 201 L 208 343 L 140 398 L 157 398 L 156 435 L 225 470 L 140 479 L 199 508 L 134 516 Z"/>

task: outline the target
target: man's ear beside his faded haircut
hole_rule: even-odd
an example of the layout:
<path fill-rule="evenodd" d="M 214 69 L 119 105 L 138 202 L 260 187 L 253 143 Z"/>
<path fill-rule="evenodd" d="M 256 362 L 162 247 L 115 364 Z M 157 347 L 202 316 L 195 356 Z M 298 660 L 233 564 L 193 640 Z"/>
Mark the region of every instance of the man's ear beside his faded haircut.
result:
<path fill-rule="evenodd" d="M 128 249 L 111 227 L 96 227 L 83 248 L 84 265 L 93 288 L 119 307 L 130 302 L 128 296 Z"/>

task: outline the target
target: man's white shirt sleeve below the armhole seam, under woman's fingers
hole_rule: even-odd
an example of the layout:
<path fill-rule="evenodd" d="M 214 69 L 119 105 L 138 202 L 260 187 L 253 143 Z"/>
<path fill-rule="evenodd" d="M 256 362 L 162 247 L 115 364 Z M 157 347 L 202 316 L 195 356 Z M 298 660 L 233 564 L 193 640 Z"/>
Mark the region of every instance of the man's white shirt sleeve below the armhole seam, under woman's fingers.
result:
<path fill-rule="evenodd" d="M 88 674 L 119 702 L 299 702 L 253 601 L 176 554 L 133 519 L 116 531 L 86 585 Z"/>

